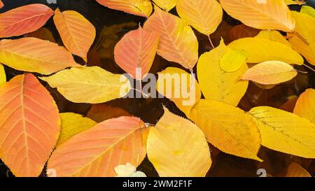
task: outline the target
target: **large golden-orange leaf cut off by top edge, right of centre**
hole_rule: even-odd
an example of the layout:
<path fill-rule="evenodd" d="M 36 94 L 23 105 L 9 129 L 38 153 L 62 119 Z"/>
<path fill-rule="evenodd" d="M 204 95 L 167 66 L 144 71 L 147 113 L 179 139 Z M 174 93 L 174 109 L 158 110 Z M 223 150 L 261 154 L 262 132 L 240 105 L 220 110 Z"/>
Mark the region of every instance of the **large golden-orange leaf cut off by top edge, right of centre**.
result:
<path fill-rule="evenodd" d="M 293 31 L 295 20 L 283 0 L 220 0 L 224 10 L 249 27 Z"/>

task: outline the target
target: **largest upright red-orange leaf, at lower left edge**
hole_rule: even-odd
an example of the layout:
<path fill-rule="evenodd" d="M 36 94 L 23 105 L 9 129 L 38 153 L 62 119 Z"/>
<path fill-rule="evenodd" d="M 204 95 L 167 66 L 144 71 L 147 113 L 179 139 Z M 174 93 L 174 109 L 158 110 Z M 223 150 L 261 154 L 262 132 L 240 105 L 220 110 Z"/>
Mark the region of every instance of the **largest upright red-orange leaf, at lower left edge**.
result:
<path fill-rule="evenodd" d="M 35 76 L 15 76 L 0 88 L 0 156 L 15 176 L 38 176 L 57 143 L 58 108 Z"/>

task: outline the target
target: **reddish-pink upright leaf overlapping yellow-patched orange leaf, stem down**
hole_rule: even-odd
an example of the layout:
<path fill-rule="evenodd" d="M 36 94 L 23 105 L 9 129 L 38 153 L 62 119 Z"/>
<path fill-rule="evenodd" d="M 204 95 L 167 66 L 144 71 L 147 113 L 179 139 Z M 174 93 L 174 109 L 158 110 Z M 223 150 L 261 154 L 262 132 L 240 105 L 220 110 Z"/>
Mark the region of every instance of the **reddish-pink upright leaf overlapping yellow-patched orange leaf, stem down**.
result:
<path fill-rule="evenodd" d="M 128 32 L 116 44 L 115 61 L 132 78 L 141 80 L 146 77 L 158 50 L 159 35 L 154 31 L 139 29 Z"/>

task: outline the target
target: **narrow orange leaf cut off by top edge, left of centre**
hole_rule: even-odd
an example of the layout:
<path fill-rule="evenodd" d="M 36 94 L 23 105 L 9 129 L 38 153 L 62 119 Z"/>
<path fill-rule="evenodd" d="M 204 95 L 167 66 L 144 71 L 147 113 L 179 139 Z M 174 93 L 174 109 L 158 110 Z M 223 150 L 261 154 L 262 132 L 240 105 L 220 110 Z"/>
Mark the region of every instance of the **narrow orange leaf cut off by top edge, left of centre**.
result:
<path fill-rule="evenodd" d="M 97 0 L 97 2 L 108 8 L 141 17 L 149 17 L 153 10 L 150 0 Z"/>

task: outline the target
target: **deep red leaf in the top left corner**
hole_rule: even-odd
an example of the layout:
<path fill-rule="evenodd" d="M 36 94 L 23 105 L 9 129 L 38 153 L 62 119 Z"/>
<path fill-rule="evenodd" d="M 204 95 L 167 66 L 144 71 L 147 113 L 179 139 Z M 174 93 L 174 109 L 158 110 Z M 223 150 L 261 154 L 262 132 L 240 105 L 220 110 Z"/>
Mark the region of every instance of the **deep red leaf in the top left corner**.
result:
<path fill-rule="evenodd" d="M 41 28 L 54 14 L 48 6 L 30 4 L 0 14 L 0 38 L 20 36 Z"/>

